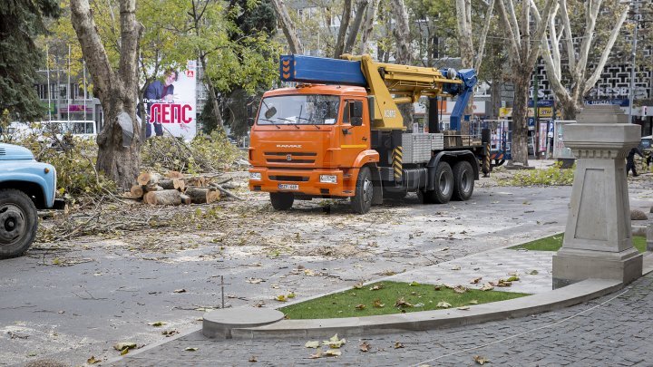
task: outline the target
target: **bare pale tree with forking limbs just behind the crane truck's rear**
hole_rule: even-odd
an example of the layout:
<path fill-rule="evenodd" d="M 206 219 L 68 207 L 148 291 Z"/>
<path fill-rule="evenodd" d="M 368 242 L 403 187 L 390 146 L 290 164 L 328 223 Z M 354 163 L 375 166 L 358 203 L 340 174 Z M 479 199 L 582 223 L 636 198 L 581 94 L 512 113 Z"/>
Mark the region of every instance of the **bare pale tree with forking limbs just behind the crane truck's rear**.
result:
<path fill-rule="evenodd" d="M 515 10 L 516 3 L 521 5 L 519 18 Z M 539 45 L 555 11 L 555 3 L 556 0 L 546 0 L 540 14 L 533 0 L 528 2 L 498 0 L 497 2 L 505 33 L 509 38 L 508 54 L 515 88 L 512 105 L 512 161 L 524 166 L 528 165 L 526 114 L 531 72 L 540 53 Z M 532 33 L 531 10 L 535 14 L 533 16 L 535 31 Z"/>

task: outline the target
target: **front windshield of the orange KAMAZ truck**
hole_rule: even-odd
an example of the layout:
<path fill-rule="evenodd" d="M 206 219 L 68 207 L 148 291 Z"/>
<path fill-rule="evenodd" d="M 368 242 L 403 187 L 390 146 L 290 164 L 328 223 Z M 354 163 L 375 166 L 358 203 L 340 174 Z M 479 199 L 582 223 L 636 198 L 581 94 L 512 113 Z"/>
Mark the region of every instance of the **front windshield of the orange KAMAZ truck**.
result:
<path fill-rule="evenodd" d="M 333 125 L 340 98 L 334 95 L 303 94 L 264 98 L 258 125 Z"/>

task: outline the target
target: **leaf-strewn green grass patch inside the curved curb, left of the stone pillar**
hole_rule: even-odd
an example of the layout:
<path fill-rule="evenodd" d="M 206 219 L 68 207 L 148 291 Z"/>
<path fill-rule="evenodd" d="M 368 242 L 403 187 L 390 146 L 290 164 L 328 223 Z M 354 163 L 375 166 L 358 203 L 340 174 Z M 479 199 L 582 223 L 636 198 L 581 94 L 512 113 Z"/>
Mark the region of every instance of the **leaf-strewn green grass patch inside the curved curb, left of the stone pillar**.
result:
<path fill-rule="evenodd" d="M 507 275 L 506 278 L 508 277 Z M 466 284 L 470 280 L 461 279 L 461 284 Z M 381 282 L 291 304 L 279 308 L 279 311 L 286 314 L 288 319 L 329 319 L 438 310 L 446 308 L 442 307 L 443 303 L 451 304 L 450 308 L 473 306 L 473 304 L 487 304 L 527 295 L 498 292 L 497 288 L 494 289 L 467 290 L 461 294 L 443 285 Z"/>

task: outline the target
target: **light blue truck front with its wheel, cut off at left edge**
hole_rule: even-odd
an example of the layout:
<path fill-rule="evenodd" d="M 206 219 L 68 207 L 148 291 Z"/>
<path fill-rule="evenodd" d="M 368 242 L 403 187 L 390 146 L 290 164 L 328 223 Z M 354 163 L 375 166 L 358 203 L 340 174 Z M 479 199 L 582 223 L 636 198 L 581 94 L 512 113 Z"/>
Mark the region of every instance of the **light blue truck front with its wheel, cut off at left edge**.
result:
<path fill-rule="evenodd" d="M 21 256 L 34 242 L 37 209 L 59 207 L 56 169 L 17 145 L 0 143 L 0 259 Z"/>

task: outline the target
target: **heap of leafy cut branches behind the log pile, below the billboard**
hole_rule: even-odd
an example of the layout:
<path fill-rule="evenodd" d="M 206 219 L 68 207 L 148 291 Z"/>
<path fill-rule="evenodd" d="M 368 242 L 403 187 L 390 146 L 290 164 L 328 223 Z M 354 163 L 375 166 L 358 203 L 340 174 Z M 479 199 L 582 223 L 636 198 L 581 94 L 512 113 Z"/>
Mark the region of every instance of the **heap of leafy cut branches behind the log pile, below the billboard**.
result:
<path fill-rule="evenodd" d="M 228 168 L 243 153 L 218 131 L 188 141 L 151 138 L 141 147 L 141 163 L 156 170 L 188 173 L 213 172 Z"/>

